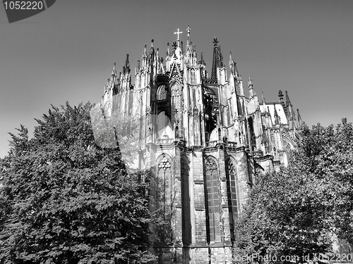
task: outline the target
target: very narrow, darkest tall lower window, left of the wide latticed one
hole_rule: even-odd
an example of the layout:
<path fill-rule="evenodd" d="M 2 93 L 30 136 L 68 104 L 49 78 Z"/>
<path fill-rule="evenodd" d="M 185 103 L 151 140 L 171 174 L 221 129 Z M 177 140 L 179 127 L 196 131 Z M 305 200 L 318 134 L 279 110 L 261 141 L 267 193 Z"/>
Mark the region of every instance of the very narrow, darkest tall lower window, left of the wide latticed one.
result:
<path fill-rule="evenodd" d="M 190 191 L 189 191 L 189 161 L 181 158 L 181 213 L 183 222 L 183 244 L 191 244 L 191 216 L 190 216 Z"/>

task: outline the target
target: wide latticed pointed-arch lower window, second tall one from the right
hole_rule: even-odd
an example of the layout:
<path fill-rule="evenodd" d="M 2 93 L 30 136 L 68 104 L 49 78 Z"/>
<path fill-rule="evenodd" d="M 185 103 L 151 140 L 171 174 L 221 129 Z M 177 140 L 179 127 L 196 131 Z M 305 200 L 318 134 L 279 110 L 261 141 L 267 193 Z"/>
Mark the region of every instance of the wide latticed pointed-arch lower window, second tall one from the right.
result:
<path fill-rule="evenodd" d="M 205 159 L 205 181 L 208 206 L 208 239 L 220 241 L 220 176 L 215 158 Z"/>

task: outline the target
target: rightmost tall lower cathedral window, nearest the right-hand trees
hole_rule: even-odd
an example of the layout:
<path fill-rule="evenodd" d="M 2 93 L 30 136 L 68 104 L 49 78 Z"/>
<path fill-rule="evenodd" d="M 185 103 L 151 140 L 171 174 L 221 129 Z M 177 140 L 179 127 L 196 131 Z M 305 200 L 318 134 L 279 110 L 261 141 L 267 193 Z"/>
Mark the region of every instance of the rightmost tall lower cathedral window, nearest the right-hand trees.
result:
<path fill-rule="evenodd" d="M 238 218 L 237 169 L 235 168 L 234 162 L 230 158 L 227 159 L 225 165 L 230 233 L 231 239 L 234 241 L 234 221 Z"/>

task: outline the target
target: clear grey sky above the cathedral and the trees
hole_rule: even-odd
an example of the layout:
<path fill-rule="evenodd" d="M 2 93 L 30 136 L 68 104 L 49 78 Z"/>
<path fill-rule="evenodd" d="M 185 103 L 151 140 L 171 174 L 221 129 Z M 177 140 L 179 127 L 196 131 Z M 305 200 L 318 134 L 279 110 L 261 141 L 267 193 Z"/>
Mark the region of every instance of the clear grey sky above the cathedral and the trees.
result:
<path fill-rule="evenodd" d="M 287 90 L 309 125 L 352 122 L 352 0 L 57 0 L 12 24 L 1 5 L 0 157 L 7 132 L 23 124 L 32 135 L 50 104 L 99 102 L 114 61 L 119 72 L 130 54 L 134 74 L 145 44 L 165 54 L 188 25 L 208 72 L 217 37 L 225 64 L 232 51 L 266 101 Z"/>

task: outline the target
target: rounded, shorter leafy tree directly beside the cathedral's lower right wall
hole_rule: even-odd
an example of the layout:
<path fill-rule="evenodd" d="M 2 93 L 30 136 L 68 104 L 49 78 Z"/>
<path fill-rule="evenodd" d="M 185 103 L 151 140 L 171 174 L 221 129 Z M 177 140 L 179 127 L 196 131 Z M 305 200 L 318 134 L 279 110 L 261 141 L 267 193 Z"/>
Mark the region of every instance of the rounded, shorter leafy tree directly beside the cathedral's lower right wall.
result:
<path fill-rule="evenodd" d="M 317 187 L 300 167 L 259 175 L 237 222 L 236 255 L 289 263 L 328 251 L 328 222 Z"/>

